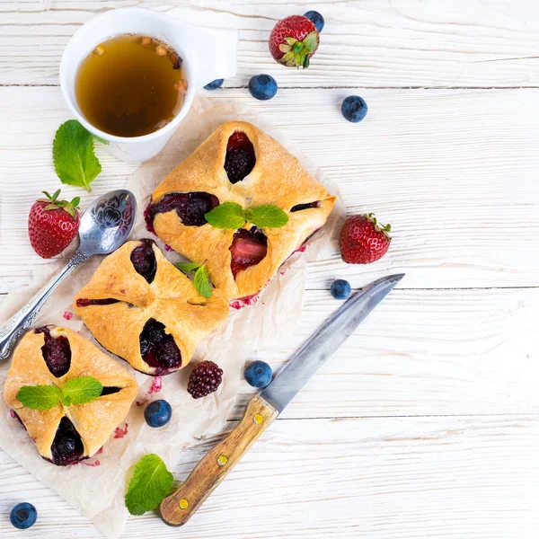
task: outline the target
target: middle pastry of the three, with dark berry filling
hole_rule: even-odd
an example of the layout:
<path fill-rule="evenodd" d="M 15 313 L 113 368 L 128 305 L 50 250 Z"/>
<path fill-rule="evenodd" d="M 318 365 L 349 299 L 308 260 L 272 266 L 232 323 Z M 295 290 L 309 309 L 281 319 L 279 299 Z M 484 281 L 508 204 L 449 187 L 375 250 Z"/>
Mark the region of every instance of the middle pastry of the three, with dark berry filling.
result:
<path fill-rule="evenodd" d="M 125 243 L 105 258 L 74 304 L 103 348 L 151 376 L 185 367 L 228 315 L 225 296 L 215 289 L 200 296 L 153 240 Z"/>

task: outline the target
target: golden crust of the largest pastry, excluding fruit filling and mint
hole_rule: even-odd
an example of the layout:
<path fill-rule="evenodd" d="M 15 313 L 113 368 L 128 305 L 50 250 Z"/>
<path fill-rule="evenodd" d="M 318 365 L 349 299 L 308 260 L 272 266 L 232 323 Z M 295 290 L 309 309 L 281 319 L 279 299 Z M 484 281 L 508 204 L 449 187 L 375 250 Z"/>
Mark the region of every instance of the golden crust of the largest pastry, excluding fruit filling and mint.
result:
<path fill-rule="evenodd" d="M 256 163 L 243 181 L 231 183 L 225 172 L 226 145 L 234 131 L 243 131 L 254 146 Z M 289 217 L 281 228 L 264 228 L 268 252 L 255 265 L 240 271 L 236 278 L 230 269 L 234 230 L 211 225 L 183 225 L 172 210 L 157 213 L 155 234 L 190 261 L 207 261 L 214 285 L 229 298 L 252 296 L 260 292 L 279 266 L 305 240 L 324 225 L 335 203 L 335 197 L 305 171 L 301 163 L 276 140 L 249 123 L 231 121 L 218 128 L 185 161 L 177 166 L 155 189 L 152 203 L 172 192 L 203 191 L 215 195 L 219 202 L 237 202 L 243 208 L 271 204 L 285 210 Z M 291 212 L 299 204 L 318 202 L 317 208 Z M 249 229 L 252 224 L 246 224 Z"/>

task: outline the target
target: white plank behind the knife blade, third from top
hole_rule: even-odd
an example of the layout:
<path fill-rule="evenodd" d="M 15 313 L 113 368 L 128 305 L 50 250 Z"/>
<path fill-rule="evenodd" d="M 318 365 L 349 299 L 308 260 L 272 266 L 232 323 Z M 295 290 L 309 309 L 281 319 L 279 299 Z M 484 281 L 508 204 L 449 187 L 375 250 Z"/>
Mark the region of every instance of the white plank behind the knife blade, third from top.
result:
<path fill-rule="evenodd" d="M 262 359 L 277 372 L 338 305 L 327 291 L 308 292 L 294 338 L 246 362 Z M 538 289 L 395 289 L 283 417 L 534 413 L 538 319 Z M 232 417 L 251 394 L 243 381 Z"/>

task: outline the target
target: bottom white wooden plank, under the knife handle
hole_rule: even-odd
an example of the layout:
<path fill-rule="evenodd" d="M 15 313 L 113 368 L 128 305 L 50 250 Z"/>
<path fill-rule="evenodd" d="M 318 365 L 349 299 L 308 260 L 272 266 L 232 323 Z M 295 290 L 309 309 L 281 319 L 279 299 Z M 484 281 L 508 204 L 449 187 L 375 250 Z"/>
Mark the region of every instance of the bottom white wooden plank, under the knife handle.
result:
<path fill-rule="evenodd" d="M 184 450 L 184 479 L 215 443 Z M 125 537 L 533 539 L 539 420 L 527 417 L 277 420 L 189 524 L 131 517 Z M 48 464 L 43 464 L 48 465 Z M 38 508 L 32 536 L 102 537 L 0 454 L 0 535 L 14 503 Z"/>

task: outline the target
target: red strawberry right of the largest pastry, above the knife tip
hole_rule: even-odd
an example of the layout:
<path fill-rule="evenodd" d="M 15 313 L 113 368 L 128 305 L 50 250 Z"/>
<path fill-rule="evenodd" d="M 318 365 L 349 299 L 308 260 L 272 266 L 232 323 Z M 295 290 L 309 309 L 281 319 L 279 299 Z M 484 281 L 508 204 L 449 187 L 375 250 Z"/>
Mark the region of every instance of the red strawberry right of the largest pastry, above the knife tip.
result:
<path fill-rule="evenodd" d="M 340 254 L 349 264 L 370 264 L 389 249 L 391 225 L 381 225 L 375 214 L 351 216 L 340 231 Z"/>

